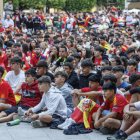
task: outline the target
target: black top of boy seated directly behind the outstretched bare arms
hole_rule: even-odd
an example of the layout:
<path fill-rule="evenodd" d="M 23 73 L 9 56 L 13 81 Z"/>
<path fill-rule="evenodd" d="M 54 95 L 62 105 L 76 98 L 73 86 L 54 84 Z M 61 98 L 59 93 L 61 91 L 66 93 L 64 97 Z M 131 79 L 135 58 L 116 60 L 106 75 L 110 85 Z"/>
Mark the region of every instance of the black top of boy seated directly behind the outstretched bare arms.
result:
<path fill-rule="evenodd" d="M 93 75 L 93 73 L 90 73 L 88 76 L 85 76 L 84 74 L 80 74 L 79 76 L 79 87 L 81 88 L 85 88 L 85 87 L 89 87 L 89 80 L 88 78 Z"/>

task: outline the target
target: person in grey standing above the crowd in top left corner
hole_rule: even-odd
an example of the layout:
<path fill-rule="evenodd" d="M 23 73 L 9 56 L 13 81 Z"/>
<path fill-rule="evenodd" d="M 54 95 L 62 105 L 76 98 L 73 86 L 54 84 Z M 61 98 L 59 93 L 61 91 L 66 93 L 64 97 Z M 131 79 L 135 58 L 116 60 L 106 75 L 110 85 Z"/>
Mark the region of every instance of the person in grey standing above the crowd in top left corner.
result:
<path fill-rule="evenodd" d="M 4 10 L 5 10 L 5 19 L 7 18 L 7 15 L 11 16 L 11 13 L 13 11 L 13 0 L 9 0 L 9 2 L 5 3 Z"/>

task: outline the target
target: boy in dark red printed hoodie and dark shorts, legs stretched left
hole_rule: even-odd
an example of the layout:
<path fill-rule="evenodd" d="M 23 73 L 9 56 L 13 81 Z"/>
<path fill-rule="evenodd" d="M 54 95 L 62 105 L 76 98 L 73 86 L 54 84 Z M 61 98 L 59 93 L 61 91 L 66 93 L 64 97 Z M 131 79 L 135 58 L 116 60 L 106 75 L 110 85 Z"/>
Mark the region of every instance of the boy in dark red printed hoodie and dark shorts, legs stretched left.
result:
<path fill-rule="evenodd" d="M 25 82 L 22 84 L 23 98 L 18 106 L 13 106 L 0 113 L 0 123 L 11 121 L 13 119 L 20 119 L 21 121 L 30 121 L 23 118 L 25 110 L 34 107 L 41 101 L 42 93 L 38 89 L 37 80 L 35 80 L 36 72 L 29 69 L 25 72 Z M 18 113 L 18 116 L 17 116 Z"/>

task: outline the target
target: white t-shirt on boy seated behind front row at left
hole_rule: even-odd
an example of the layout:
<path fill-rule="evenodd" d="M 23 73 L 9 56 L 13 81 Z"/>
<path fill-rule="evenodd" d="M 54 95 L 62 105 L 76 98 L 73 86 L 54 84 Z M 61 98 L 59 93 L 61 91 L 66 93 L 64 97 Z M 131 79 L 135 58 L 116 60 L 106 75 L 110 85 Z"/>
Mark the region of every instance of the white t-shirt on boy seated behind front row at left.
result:
<path fill-rule="evenodd" d="M 12 90 L 15 90 L 18 83 L 25 82 L 25 73 L 21 70 L 18 75 L 15 75 L 14 71 L 9 71 L 5 76 L 5 81 L 9 83 Z M 22 90 L 19 93 L 22 94 Z"/>

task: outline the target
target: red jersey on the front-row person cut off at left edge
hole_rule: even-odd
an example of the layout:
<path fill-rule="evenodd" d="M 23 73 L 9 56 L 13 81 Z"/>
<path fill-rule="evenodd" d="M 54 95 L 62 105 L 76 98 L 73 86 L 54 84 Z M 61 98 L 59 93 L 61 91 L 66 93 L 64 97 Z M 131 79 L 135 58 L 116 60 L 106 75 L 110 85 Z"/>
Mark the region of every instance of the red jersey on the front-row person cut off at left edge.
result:
<path fill-rule="evenodd" d="M 16 106 L 15 95 L 10 85 L 3 79 L 0 82 L 0 99 L 5 99 L 6 104 Z"/>

